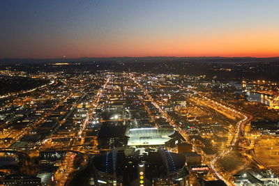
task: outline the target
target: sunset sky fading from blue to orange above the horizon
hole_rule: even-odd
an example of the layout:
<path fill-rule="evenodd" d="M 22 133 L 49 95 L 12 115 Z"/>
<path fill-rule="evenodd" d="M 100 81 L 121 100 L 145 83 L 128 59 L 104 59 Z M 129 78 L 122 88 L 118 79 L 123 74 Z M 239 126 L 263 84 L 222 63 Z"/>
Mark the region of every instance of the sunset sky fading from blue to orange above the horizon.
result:
<path fill-rule="evenodd" d="M 279 56 L 278 0 L 1 0 L 0 57 Z"/>

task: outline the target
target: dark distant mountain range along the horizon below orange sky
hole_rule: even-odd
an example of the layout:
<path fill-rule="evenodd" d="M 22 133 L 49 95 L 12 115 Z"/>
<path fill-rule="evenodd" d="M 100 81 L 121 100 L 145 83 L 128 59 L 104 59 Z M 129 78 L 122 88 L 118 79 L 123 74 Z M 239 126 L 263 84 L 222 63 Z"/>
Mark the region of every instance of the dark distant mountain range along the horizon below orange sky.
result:
<path fill-rule="evenodd" d="M 146 56 L 146 57 L 111 57 L 111 58 L 78 58 L 78 59 L 0 59 L 0 63 L 85 63 L 85 62 L 186 62 L 186 63 L 264 63 L 279 62 L 279 57 L 175 57 L 175 56 Z"/>

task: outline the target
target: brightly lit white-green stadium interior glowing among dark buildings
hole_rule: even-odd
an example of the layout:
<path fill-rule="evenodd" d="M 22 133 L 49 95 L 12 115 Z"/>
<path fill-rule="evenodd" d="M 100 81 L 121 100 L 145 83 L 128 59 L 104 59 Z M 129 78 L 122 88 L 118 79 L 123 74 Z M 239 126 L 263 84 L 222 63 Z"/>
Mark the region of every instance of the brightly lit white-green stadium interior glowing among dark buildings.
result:
<path fill-rule="evenodd" d="M 169 128 L 133 128 L 126 131 L 128 146 L 157 146 L 164 145 L 171 139 L 174 130 Z"/>

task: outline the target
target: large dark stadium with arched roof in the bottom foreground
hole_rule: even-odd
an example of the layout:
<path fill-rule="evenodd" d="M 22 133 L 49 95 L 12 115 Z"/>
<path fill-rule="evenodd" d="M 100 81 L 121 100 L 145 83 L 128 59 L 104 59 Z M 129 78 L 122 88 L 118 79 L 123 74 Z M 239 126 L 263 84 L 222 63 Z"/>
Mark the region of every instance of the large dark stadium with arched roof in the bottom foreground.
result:
<path fill-rule="evenodd" d="M 186 157 L 159 149 L 113 149 L 93 157 L 96 185 L 188 185 Z"/>

